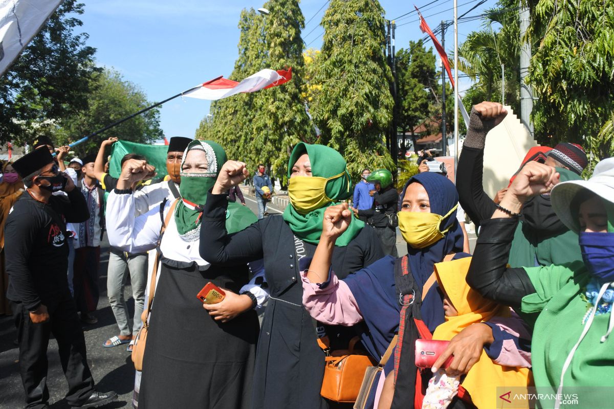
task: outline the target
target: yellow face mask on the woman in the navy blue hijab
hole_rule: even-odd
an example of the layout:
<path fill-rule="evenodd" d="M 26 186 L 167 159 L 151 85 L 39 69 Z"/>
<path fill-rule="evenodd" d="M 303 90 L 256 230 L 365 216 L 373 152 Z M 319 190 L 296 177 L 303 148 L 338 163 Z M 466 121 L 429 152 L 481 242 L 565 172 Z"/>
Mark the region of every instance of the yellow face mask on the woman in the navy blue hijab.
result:
<path fill-rule="evenodd" d="M 450 224 L 443 232 L 439 230 L 439 225 L 457 207 L 458 204 L 445 216 L 437 213 L 398 212 L 398 229 L 403 235 L 403 240 L 413 248 L 425 248 L 443 239 L 443 236 L 453 224 Z"/>

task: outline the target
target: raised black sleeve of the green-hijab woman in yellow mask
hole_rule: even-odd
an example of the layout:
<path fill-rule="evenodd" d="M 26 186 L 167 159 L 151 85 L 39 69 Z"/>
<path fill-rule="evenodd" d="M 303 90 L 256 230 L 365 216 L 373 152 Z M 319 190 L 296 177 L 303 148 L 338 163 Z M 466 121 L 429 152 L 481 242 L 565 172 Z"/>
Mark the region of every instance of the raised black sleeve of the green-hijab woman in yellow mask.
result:
<path fill-rule="evenodd" d="M 227 194 L 209 191 L 200 227 L 200 256 L 211 264 L 233 266 L 263 258 L 260 223 L 235 234 L 226 230 Z"/>

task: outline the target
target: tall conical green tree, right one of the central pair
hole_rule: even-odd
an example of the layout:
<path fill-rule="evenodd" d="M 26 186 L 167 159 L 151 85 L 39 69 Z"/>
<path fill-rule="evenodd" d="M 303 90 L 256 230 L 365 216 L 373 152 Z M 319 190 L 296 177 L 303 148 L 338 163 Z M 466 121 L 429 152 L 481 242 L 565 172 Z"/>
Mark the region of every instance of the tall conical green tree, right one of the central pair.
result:
<path fill-rule="evenodd" d="M 321 143 L 340 151 L 356 179 L 366 166 L 397 173 L 383 145 L 394 107 L 383 13 L 376 0 L 332 0 L 322 18 L 324 43 L 314 73 L 322 90 L 311 114 Z"/>

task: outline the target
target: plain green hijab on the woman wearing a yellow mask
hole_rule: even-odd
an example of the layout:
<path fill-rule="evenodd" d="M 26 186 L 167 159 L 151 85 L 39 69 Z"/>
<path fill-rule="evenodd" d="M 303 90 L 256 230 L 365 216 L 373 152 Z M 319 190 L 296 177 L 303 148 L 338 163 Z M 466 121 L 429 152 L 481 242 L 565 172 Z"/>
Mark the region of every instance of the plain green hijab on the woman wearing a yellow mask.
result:
<path fill-rule="evenodd" d="M 284 211 L 284 220 L 288 223 L 290 230 L 299 239 L 311 244 L 317 244 L 322 234 L 324 211 L 328 206 L 336 205 L 340 201 L 349 199 L 352 196 L 352 186 L 348 170 L 346 169 L 346 161 L 338 151 L 324 145 L 309 145 L 303 142 L 298 143 L 292 150 L 290 161 L 288 162 L 288 178 L 292 174 L 292 166 L 305 153 L 309 155 L 311 174 L 313 176 L 330 178 L 342 174 L 340 177 L 331 179 L 326 183 L 326 196 L 332 199 L 332 202 L 306 215 L 298 213 L 292 204 L 288 205 Z M 348 229 L 336 240 L 335 245 L 339 247 L 348 245 L 364 226 L 365 223 L 363 221 L 352 218 Z"/>

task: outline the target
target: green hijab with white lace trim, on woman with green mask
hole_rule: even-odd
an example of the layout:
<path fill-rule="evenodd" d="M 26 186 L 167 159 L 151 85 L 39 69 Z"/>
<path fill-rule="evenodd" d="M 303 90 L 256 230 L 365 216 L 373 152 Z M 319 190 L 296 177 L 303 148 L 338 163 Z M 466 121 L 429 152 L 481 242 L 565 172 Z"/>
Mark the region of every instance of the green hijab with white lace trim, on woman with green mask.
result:
<path fill-rule="evenodd" d="M 222 165 L 226 162 L 226 152 L 212 140 L 193 140 L 184 151 L 181 169 L 184 167 L 188 151 L 201 150 L 207 155 L 207 171 L 204 173 L 188 173 L 180 170 L 181 183 L 179 193 L 184 199 L 175 210 L 177 232 L 187 242 L 200 239 L 200 220 L 203 213 L 202 205 L 207 201 L 209 189 L 215 185 Z M 236 203 L 228 204 L 226 212 L 226 229 L 228 233 L 243 230 L 257 221 L 258 218 L 249 208 Z"/>

